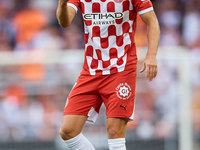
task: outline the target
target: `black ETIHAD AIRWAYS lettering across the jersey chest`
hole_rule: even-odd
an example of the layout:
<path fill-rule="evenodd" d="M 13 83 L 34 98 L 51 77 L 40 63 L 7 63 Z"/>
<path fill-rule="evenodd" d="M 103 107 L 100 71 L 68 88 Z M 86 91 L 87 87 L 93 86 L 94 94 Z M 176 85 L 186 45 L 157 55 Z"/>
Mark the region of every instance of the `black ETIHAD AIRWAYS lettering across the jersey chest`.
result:
<path fill-rule="evenodd" d="M 92 25 L 113 25 L 115 19 L 121 19 L 124 16 L 122 12 L 92 13 L 84 14 L 84 20 L 91 20 Z"/>

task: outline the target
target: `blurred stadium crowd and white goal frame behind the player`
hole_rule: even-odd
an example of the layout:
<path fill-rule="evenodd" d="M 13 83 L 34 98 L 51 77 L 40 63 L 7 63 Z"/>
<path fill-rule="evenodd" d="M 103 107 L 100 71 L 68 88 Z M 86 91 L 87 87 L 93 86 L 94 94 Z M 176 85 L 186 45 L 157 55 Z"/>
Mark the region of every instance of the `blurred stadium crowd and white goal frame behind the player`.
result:
<path fill-rule="evenodd" d="M 200 1 L 152 0 L 160 22 L 158 76 L 138 73 L 135 120 L 128 150 L 200 149 Z M 0 0 L 0 150 L 66 150 L 59 126 L 66 98 L 82 68 L 80 13 L 66 29 L 58 0 Z M 138 19 L 138 70 L 146 29 Z M 105 107 L 84 134 L 106 150 Z"/>

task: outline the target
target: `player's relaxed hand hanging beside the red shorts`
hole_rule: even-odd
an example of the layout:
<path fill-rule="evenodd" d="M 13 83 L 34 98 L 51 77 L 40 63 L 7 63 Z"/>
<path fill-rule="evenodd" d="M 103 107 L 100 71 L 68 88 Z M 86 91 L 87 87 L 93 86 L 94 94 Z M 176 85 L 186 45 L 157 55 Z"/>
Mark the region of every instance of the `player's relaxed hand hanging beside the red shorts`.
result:
<path fill-rule="evenodd" d="M 144 72 L 146 69 L 146 78 L 149 81 L 152 81 L 153 78 L 157 75 L 157 60 L 155 56 L 147 56 L 142 64 L 141 72 Z"/>

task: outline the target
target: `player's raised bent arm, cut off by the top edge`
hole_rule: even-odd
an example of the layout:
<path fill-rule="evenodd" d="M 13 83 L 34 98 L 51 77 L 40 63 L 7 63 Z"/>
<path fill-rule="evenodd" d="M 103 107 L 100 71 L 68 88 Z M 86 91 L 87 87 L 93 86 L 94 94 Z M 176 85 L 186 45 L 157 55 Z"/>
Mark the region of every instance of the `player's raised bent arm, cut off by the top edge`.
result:
<path fill-rule="evenodd" d="M 67 5 L 68 1 L 69 0 L 59 0 L 56 12 L 58 22 L 63 28 L 66 28 L 71 24 L 76 14 L 76 10 L 73 7 Z"/>

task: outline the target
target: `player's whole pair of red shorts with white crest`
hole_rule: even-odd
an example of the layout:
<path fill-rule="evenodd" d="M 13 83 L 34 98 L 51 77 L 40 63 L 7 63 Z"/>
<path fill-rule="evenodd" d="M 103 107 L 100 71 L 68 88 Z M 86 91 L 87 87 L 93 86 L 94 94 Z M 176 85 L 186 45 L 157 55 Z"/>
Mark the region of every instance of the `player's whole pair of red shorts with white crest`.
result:
<path fill-rule="evenodd" d="M 133 120 L 136 86 L 136 69 L 111 75 L 80 75 L 73 87 L 63 115 L 85 115 L 94 123 L 101 104 L 107 117 Z"/>

